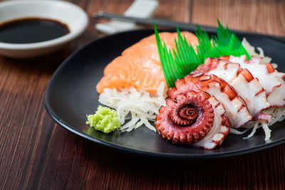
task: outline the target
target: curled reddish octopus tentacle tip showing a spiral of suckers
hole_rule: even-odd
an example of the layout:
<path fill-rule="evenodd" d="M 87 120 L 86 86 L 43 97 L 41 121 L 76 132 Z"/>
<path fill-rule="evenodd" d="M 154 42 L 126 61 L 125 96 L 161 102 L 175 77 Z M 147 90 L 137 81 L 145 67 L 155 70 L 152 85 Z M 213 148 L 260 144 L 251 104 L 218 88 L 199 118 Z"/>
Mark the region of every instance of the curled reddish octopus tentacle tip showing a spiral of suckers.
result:
<path fill-rule="evenodd" d="M 174 144 L 191 144 L 203 139 L 214 122 L 209 97 L 205 92 L 190 91 L 168 99 L 156 117 L 157 132 Z"/>

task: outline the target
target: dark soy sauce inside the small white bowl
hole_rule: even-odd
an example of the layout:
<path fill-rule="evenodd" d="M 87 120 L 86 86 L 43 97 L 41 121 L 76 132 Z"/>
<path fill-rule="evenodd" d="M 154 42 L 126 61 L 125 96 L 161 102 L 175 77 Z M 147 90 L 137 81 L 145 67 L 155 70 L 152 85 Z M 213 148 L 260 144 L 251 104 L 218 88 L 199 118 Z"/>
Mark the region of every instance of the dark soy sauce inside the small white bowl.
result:
<path fill-rule="evenodd" d="M 66 24 L 52 19 L 25 18 L 0 24 L 0 42 L 36 43 L 68 34 Z"/>

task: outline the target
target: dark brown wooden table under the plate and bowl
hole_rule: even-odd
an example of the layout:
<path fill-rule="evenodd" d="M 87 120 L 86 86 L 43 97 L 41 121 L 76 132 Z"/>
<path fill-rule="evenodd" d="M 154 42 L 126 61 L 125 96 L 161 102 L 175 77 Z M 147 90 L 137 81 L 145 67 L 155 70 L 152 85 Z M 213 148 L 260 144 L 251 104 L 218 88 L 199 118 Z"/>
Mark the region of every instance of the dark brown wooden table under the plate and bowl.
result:
<path fill-rule="evenodd" d="M 165 160 L 100 147 L 48 116 L 48 80 L 72 51 L 104 36 L 93 12 L 123 13 L 132 0 L 73 0 L 90 18 L 71 46 L 43 58 L 0 57 L 0 189 L 285 189 L 285 144 L 225 159 Z M 161 0 L 155 16 L 285 35 L 285 1 Z M 283 63 L 280 63 L 283 64 Z"/>

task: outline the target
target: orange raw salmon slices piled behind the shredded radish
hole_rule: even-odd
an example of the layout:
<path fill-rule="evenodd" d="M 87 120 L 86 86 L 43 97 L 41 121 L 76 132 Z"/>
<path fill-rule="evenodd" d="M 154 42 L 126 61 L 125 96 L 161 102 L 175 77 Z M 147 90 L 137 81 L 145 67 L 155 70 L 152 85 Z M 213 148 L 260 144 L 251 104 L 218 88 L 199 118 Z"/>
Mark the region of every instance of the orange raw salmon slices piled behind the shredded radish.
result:
<path fill-rule="evenodd" d="M 199 44 L 195 34 L 186 31 L 181 34 L 193 47 L 196 48 Z M 175 48 L 175 38 L 177 33 L 160 33 L 160 39 L 162 43 L 165 42 L 167 48 Z M 154 95 L 162 82 L 165 82 L 165 78 L 160 66 L 155 35 L 152 34 L 125 49 L 122 56 L 109 63 L 96 88 L 98 93 L 103 93 L 104 88 L 120 90 L 134 87 Z"/>

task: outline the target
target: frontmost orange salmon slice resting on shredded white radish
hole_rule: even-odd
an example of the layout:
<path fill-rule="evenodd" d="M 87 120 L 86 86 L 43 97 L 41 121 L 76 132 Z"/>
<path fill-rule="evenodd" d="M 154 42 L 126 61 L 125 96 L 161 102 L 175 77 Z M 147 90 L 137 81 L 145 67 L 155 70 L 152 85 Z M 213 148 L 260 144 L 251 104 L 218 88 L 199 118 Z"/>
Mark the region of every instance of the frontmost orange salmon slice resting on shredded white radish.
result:
<path fill-rule="evenodd" d="M 104 88 L 136 88 L 155 95 L 160 83 L 165 81 L 160 63 L 156 60 L 119 56 L 107 65 L 104 77 L 97 85 L 98 93 Z"/>

